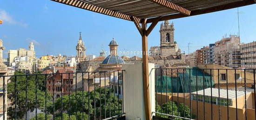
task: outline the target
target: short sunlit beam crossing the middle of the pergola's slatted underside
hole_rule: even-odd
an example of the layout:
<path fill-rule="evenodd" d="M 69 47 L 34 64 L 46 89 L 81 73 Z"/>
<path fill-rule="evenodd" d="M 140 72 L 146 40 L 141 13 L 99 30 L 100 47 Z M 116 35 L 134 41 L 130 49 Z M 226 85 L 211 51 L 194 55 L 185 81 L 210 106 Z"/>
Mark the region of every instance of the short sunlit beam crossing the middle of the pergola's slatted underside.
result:
<path fill-rule="evenodd" d="M 189 16 L 190 15 L 190 10 L 182 7 L 182 6 L 178 6 L 170 1 L 167 1 L 167 0 L 149 0 L 149 1 L 152 1 L 158 5 L 161 5 L 161 6 L 164 6 L 164 7 L 167 7 L 171 10 L 174 10 L 176 12 L 179 12 L 179 13 L 182 13 L 184 15 L 187 15 Z"/>

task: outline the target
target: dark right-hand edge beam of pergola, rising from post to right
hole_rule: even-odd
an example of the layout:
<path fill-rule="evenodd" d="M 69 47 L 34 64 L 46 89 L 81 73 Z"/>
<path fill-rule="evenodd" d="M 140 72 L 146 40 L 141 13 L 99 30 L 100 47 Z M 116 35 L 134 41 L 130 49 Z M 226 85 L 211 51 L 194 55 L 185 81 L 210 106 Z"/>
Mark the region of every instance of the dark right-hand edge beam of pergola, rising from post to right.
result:
<path fill-rule="evenodd" d="M 217 11 L 222 11 L 222 10 L 228 10 L 228 9 L 232 9 L 232 8 L 236 8 L 236 7 L 252 5 L 255 3 L 256 3 L 256 0 L 237 1 L 237 2 L 233 2 L 233 3 L 221 5 L 221 6 L 214 6 L 214 7 L 209 7 L 206 9 L 194 10 L 194 11 L 191 11 L 190 16 L 200 15 L 200 14 L 205 14 L 205 13 L 212 13 L 212 12 L 217 12 Z M 169 20 L 169 19 L 179 19 L 179 18 L 184 18 L 184 17 L 188 17 L 188 16 L 181 14 L 181 13 L 177 13 L 177 14 L 163 16 L 160 19 L 160 21 Z M 148 19 L 147 23 L 153 23 L 155 21 L 155 19 L 157 19 L 157 18 Z"/>

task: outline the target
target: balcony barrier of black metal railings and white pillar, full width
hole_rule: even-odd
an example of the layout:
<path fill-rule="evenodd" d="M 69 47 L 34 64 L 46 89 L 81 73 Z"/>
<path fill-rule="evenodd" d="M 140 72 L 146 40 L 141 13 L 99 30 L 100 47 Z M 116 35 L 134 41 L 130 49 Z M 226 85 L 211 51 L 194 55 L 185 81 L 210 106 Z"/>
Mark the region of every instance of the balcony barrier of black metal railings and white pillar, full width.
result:
<path fill-rule="evenodd" d="M 5 97 L 10 98 L 7 112 L 13 114 L 5 117 L 26 119 L 24 111 L 32 110 L 32 117 L 39 120 L 145 120 L 141 67 L 137 63 L 123 65 L 125 70 L 59 73 L 74 80 L 74 84 L 61 82 L 61 92 L 55 82 L 54 89 L 47 88 L 47 80 L 58 74 L 11 76 L 10 94 Z M 255 69 L 251 73 L 249 69 L 154 68 L 152 63 L 149 69 L 154 120 L 255 119 Z M 64 85 L 74 88 L 63 92 Z"/>

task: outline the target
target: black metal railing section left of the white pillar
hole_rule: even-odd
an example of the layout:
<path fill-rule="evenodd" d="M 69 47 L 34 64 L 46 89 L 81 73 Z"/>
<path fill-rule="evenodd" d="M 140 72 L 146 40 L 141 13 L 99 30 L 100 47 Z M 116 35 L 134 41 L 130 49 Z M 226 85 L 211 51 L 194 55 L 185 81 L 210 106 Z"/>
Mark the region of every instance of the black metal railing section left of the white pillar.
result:
<path fill-rule="evenodd" d="M 5 83 L 9 77 L 10 82 Z M 16 71 L 14 76 L 0 76 L 8 88 L 8 95 L 2 96 L 3 104 L 8 103 L 7 116 L 3 114 L 3 120 L 108 120 L 122 117 L 125 114 L 123 85 L 119 84 L 122 77 L 123 70 L 34 75 Z M 111 88 L 111 85 L 118 87 Z M 115 94 L 116 90 L 121 92 Z M 34 116 L 28 116 L 30 112 L 34 112 Z"/>

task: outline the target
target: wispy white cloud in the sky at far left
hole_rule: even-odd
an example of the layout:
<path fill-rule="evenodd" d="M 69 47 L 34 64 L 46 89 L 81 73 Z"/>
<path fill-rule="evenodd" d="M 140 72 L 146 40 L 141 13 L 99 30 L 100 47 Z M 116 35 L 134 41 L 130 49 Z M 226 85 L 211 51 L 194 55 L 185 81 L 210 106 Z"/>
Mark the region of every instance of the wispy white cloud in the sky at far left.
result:
<path fill-rule="evenodd" d="M 12 16 L 10 16 L 5 10 L 0 10 L 0 19 L 2 19 L 4 23 L 7 22 L 9 24 L 16 24 L 25 27 L 27 26 L 26 23 L 18 22 L 15 19 L 13 19 Z"/>

